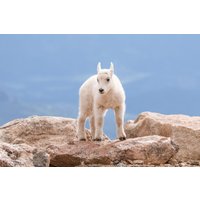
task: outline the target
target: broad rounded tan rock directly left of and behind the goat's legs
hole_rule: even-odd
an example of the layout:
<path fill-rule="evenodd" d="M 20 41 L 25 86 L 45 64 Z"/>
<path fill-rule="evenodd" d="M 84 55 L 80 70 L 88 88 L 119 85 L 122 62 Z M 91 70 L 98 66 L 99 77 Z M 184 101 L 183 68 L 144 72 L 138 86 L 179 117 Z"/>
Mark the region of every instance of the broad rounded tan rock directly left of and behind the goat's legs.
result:
<path fill-rule="evenodd" d="M 87 139 L 91 140 L 86 130 Z M 0 141 L 28 144 L 45 149 L 77 140 L 76 120 L 63 117 L 33 116 L 11 121 L 0 127 Z"/>

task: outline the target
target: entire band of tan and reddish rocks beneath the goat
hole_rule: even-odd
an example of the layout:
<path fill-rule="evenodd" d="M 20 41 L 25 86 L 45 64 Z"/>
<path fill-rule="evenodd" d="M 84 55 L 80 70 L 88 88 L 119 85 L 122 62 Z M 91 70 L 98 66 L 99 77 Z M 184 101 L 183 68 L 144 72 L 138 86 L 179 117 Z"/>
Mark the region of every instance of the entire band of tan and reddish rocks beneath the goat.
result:
<path fill-rule="evenodd" d="M 199 118 L 150 115 L 126 124 L 127 135 L 137 138 L 110 141 L 105 136 L 103 142 L 91 141 L 88 130 L 87 142 L 79 142 L 76 119 L 11 121 L 0 127 L 0 166 L 199 166 Z M 177 162 L 177 155 L 185 160 Z"/>

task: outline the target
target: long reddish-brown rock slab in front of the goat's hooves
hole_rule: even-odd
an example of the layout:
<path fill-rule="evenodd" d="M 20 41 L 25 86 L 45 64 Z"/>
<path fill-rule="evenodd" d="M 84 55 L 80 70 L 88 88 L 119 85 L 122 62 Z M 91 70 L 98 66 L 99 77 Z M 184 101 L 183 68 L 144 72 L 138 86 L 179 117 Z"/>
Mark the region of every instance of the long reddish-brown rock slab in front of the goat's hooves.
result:
<path fill-rule="evenodd" d="M 123 162 L 167 163 L 177 152 L 170 138 L 147 136 L 113 142 L 74 142 L 48 148 L 50 165 L 57 167 L 117 165 Z"/>

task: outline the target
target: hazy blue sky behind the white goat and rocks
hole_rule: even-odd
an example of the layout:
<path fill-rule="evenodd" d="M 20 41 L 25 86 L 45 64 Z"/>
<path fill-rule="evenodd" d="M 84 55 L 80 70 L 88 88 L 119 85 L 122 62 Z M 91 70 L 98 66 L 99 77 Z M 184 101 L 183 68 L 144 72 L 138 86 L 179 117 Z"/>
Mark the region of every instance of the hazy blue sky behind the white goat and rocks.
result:
<path fill-rule="evenodd" d="M 200 115 L 200 35 L 0 35 L 0 124 L 77 117 L 78 90 L 98 62 L 122 80 L 126 120 L 143 111 Z M 114 136 L 113 114 L 105 132 Z"/>

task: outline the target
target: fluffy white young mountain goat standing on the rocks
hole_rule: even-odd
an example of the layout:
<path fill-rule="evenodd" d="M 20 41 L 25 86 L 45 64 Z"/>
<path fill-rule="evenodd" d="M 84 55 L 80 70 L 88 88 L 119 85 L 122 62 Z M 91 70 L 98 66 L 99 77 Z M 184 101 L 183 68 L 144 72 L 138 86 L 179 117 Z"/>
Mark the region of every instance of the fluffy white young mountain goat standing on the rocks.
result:
<path fill-rule="evenodd" d="M 104 90 L 103 94 L 99 89 Z M 101 63 L 98 63 L 97 75 L 86 80 L 79 90 L 77 130 L 79 140 L 86 140 L 84 127 L 88 117 L 93 139 L 102 140 L 104 115 L 109 108 L 115 111 L 118 138 L 125 139 L 125 107 L 125 92 L 120 80 L 114 74 L 113 63 L 111 63 L 110 69 L 101 69 Z"/>

